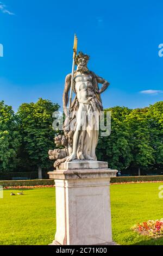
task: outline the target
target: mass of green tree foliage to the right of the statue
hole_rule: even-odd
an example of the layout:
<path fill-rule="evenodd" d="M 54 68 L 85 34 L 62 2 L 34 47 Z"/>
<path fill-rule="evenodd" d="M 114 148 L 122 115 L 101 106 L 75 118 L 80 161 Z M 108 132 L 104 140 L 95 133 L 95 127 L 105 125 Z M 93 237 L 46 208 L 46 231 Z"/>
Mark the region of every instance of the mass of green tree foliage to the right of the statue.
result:
<path fill-rule="evenodd" d="M 163 170 L 163 102 L 146 108 L 113 107 L 111 135 L 99 136 L 97 157 L 109 168 L 130 173 Z"/>

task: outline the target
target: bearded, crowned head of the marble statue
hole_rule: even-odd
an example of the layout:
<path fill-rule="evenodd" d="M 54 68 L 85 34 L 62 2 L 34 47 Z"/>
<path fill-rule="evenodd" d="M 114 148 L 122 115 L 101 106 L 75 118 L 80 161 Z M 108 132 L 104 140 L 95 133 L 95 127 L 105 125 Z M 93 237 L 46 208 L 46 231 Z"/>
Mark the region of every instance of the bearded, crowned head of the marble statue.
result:
<path fill-rule="evenodd" d="M 87 63 L 89 62 L 90 56 L 84 54 L 83 52 L 79 52 L 76 57 L 76 65 L 78 66 L 77 70 L 80 72 L 88 72 Z"/>

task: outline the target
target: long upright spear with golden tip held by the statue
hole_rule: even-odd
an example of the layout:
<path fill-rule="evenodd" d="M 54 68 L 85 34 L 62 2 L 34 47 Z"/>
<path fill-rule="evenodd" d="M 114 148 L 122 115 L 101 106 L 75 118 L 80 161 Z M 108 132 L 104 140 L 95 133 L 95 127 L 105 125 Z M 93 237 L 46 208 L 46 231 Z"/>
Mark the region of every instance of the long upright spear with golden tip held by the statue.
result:
<path fill-rule="evenodd" d="M 74 44 L 73 44 L 73 62 L 72 62 L 72 73 L 71 73 L 71 89 L 70 89 L 70 102 L 69 102 L 69 113 L 71 109 L 71 103 L 72 103 L 72 90 L 73 90 L 73 77 L 74 77 L 74 68 L 75 68 L 75 59 L 77 56 L 77 45 L 78 45 L 78 38 L 77 35 L 74 34 Z"/>

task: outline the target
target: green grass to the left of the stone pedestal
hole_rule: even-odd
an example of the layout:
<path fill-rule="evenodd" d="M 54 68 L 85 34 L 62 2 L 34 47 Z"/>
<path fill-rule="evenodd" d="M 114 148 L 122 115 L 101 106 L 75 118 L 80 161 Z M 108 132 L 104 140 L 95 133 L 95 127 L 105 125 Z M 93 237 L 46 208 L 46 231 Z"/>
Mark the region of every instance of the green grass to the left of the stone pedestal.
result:
<path fill-rule="evenodd" d="M 13 191 L 16 193 L 17 191 Z M 48 245 L 55 234 L 55 189 L 24 190 L 0 199 L 0 245 Z"/>

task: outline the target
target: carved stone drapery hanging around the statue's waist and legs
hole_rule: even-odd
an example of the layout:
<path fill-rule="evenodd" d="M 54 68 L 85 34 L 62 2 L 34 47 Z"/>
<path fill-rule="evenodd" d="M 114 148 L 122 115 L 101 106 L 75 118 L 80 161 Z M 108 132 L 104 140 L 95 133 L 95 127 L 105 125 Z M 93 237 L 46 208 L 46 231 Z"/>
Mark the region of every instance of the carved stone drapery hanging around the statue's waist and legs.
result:
<path fill-rule="evenodd" d="M 103 110 L 101 97 L 97 94 L 98 83 L 95 74 L 92 75 L 93 92 L 92 96 L 86 101 L 80 101 L 77 96 L 72 102 L 70 117 L 66 118 L 64 123 L 65 135 L 68 136 L 68 147 L 73 148 L 73 135 L 77 127 L 79 131 L 77 143 L 77 159 L 87 159 L 86 156 L 97 160 L 96 147 L 99 133 L 99 115 Z M 75 90 L 74 90 L 74 93 Z M 72 151 L 72 149 L 70 150 Z"/>

